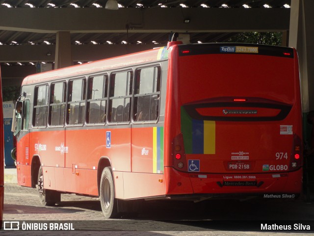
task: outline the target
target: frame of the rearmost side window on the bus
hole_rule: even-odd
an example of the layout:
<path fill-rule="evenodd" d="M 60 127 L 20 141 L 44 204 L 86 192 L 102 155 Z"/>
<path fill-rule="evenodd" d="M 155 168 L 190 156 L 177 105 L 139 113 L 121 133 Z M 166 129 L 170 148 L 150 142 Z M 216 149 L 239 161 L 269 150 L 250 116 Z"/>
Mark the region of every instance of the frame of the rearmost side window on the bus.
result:
<path fill-rule="evenodd" d="M 148 94 L 135 94 L 135 80 L 136 80 L 136 71 L 137 70 L 142 70 L 142 69 L 147 69 L 147 68 L 155 68 L 158 67 L 160 68 L 160 81 L 159 81 L 159 92 L 154 92 L 154 93 L 148 93 Z M 146 64 L 143 66 L 139 66 L 136 67 L 134 69 L 134 77 L 133 77 L 133 104 L 132 104 L 132 117 L 131 117 L 131 121 L 134 125 L 142 125 L 142 124 L 157 124 L 159 122 L 159 117 L 160 117 L 160 100 L 161 100 L 161 90 L 162 90 L 162 65 L 161 63 L 157 63 L 157 64 Z M 137 96 L 136 96 L 137 95 Z M 159 95 L 159 103 L 158 103 L 158 115 L 157 115 L 157 119 L 156 120 L 150 120 L 150 121 L 136 121 L 134 120 L 134 102 L 135 102 L 135 98 L 136 97 L 140 97 L 141 96 L 154 96 L 154 95 Z"/>

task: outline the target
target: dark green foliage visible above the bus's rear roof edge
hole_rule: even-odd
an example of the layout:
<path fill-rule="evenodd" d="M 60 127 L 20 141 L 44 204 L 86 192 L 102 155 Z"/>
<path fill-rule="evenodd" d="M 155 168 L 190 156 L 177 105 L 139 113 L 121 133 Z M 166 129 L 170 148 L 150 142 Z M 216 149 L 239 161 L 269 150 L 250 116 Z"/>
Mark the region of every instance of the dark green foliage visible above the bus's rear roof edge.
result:
<path fill-rule="evenodd" d="M 228 39 L 229 43 L 282 45 L 282 32 L 241 32 Z"/>

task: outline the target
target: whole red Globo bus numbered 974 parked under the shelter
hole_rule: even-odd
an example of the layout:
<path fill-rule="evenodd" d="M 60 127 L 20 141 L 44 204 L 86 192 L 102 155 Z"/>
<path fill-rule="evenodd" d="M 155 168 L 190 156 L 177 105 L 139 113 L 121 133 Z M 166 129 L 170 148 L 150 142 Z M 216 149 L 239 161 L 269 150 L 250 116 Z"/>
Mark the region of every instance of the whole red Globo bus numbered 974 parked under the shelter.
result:
<path fill-rule="evenodd" d="M 28 76 L 22 94 L 18 183 L 44 205 L 100 196 L 115 217 L 123 200 L 301 192 L 292 48 L 170 42 Z"/>

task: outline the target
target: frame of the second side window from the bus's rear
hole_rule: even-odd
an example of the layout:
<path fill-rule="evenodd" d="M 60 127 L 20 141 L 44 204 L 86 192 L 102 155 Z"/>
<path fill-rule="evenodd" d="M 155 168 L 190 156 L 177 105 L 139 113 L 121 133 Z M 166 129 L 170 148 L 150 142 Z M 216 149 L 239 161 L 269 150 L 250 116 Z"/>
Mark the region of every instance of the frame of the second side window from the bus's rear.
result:
<path fill-rule="evenodd" d="M 125 96 L 116 96 L 116 97 L 110 97 L 110 88 L 111 88 L 111 77 L 112 75 L 115 75 L 115 74 L 118 74 L 118 73 L 128 73 L 130 72 L 131 73 L 131 82 L 130 82 L 130 86 L 131 86 L 131 95 L 125 95 Z M 115 71 L 111 71 L 109 73 L 109 77 L 108 77 L 108 93 L 107 93 L 107 96 L 108 96 L 108 100 L 107 100 L 107 111 L 106 111 L 106 124 L 109 125 L 109 126 L 116 126 L 116 125 L 129 125 L 131 124 L 131 121 L 132 121 L 132 107 L 133 107 L 133 97 L 134 97 L 134 68 L 131 67 L 131 68 L 124 68 L 122 70 L 115 70 Z M 110 111 L 109 111 L 109 107 L 110 107 L 110 101 L 111 100 L 114 100 L 114 99 L 127 99 L 127 98 L 130 98 L 131 101 L 130 101 L 130 119 L 129 121 L 122 121 L 122 122 L 112 122 L 112 121 L 109 121 L 109 116 L 111 118 L 111 115 L 110 115 Z M 123 110 L 125 109 L 125 107 L 123 108 Z"/>

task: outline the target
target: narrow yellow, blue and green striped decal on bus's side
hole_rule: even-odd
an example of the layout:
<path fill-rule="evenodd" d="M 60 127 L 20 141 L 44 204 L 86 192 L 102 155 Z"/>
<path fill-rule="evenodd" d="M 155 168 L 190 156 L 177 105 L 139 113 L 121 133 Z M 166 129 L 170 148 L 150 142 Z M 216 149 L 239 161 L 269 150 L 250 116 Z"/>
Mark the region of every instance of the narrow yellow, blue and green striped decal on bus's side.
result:
<path fill-rule="evenodd" d="M 153 128 L 153 173 L 163 173 L 163 127 Z"/>

